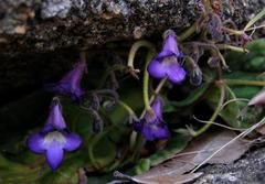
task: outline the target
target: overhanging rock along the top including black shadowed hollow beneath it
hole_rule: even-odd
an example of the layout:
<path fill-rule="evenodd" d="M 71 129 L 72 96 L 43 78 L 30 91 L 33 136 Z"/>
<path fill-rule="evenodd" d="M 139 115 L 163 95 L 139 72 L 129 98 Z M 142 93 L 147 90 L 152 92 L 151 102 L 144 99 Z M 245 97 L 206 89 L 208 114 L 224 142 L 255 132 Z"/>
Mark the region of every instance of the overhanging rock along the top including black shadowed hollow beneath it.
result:
<path fill-rule="evenodd" d="M 265 6 L 264 0 L 222 2 L 223 19 L 237 24 Z M 60 77 L 80 48 L 98 52 L 110 43 L 108 51 L 126 53 L 136 35 L 181 32 L 198 17 L 198 0 L 1 0 L 0 95 Z"/>

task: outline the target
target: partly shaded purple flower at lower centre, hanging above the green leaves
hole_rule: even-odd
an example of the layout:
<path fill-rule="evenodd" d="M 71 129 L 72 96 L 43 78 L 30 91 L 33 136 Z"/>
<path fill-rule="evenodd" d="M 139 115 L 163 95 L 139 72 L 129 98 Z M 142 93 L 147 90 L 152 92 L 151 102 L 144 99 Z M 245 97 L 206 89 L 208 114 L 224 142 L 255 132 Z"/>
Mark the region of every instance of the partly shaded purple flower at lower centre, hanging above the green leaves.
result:
<path fill-rule="evenodd" d="M 157 98 L 151 105 L 152 111 L 148 111 L 140 121 L 134 123 L 135 130 L 141 132 L 147 141 L 169 137 L 168 127 L 162 120 L 162 99 Z"/>

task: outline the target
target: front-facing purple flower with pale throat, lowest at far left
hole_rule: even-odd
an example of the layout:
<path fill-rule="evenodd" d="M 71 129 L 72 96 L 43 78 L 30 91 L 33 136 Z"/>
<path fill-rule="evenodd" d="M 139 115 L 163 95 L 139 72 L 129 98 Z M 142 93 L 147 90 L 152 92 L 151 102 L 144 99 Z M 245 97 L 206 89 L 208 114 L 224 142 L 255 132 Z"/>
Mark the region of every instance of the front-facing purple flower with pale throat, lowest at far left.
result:
<path fill-rule="evenodd" d="M 75 151 L 81 145 L 78 134 L 71 133 L 65 125 L 57 100 L 53 100 L 46 125 L 26 139 L 28 148 L 46 155 L 49 165 L 55 171 L 63 161 L 65 151 Z"/>

